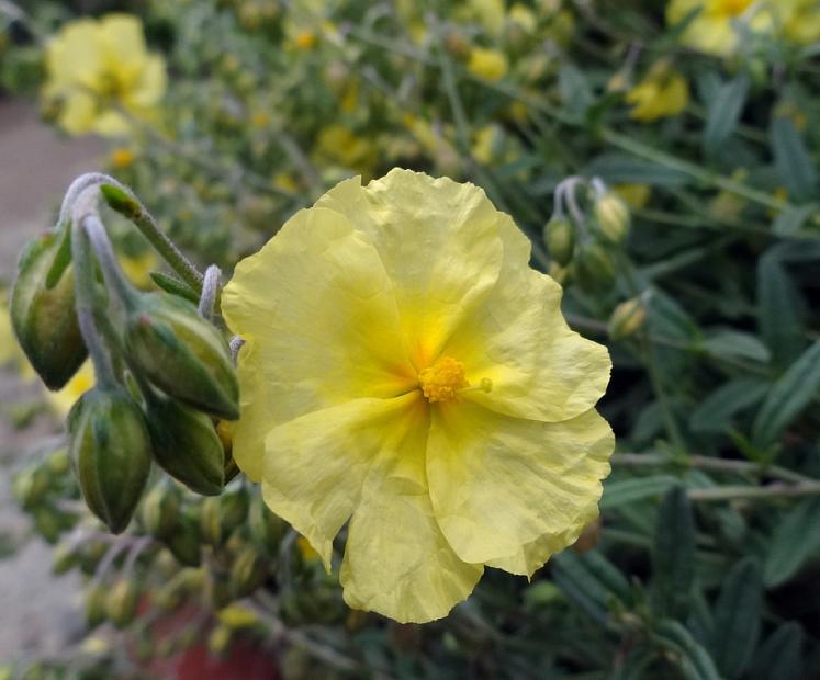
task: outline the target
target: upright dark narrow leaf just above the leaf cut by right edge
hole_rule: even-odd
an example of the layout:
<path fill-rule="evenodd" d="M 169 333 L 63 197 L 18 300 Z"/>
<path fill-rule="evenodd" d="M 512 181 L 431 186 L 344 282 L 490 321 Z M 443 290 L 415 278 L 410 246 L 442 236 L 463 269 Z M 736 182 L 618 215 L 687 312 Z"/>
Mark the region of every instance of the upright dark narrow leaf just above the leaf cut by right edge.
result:
<path fill-rule="evenodd" d="M 757 328 L 774 361 L 786 366 L 802 351 L 800 293 L 776 253 L 757 263 Z"/>

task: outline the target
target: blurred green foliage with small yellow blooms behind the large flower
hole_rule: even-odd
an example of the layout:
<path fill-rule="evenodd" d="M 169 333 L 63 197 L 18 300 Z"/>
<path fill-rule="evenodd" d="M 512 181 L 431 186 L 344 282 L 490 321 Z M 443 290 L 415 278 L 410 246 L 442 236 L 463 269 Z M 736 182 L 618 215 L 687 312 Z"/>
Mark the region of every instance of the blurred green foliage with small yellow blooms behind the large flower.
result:
<path fill-rule="evenodd" d="M 229 270 L 352 173 L 481 185 L 563 281 L 571 325 L 608 343 L 618 453 L 576 546 L 529 583 L 491 570 L 419 627 L 347 610 L 241 479 L 213 499 L 160 479 L 113 540 L 74 502 L 64 450 L 46 452 L 15 489 L 55 569 L 88 575 L 94 642 L 14 672 L 150 677 L 206 638 L 277 649 L 285 678 L 820 677 L 820 44 L 764 31 L 703 54 L 660 0 L 25 9 L 0 33 L 20 94 L 71 15 L 142 10 L 170 86 L 158 123 L 112 141 L 110 170 L 201 264 Z M 621 245 L 580 233 L 564 268 L 542 228 L 568 175 L 615 186 L 632 229 Z M 610 319 L 628 299 L 638 316 Z"/>

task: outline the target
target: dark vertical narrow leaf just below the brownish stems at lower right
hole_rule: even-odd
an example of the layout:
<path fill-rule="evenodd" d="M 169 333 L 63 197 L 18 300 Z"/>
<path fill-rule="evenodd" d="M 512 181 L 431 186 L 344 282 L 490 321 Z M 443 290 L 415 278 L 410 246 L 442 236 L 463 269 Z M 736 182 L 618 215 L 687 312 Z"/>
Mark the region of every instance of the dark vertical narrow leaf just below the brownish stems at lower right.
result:
<path fill-rule="evenodd" d="M 695 519 L 682 486 L 663 497 L 652 545 L 652 609 L 658 615 L 681 617 L 689 605 L 695 578 Z"/>

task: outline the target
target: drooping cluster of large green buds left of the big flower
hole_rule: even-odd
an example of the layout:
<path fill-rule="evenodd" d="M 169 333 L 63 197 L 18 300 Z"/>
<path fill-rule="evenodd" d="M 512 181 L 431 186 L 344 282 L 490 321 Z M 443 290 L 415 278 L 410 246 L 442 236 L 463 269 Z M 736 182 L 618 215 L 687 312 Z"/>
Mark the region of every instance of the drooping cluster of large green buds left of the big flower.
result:
<path fill-rule="evenodd" d="M 126 192 L 105 189 L 117 212 L 132 219 L 142 214 Z M 195 305 L 167 292 L 137 292 L 116 262 L 100 254 L 99 242 L 96 258 L 79 259 L 81 241 L 74 231 L 80 228 L 63 218 L 29 245 L 19 261 L 11 318 L 50 389 L 61 388 L 91 350 L 98 383 L 69 413 L 68 450 L 86 503 L 120 533 L 143 497 L 154 462 L 198 494 L 222 491 L 235 466 L 216 423 L 238 418 L 238 382 L 223 332 Z M 91 288 L 85 299 L 81 274 Z M 90 329 L 80 320 L 83 304 Z"/>

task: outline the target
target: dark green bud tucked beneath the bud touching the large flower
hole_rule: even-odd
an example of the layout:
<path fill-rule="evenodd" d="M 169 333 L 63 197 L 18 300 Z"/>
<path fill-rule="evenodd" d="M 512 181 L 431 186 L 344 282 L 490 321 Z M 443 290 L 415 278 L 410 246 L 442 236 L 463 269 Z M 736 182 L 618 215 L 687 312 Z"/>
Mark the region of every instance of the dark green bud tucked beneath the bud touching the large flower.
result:
<path fill-rule="evenodd" d="M 211 418 L 178 404 L 155 398 L 148 404 L 148 430 L 160 467 L 203 496 L 222 492 L 225 452 Z"/>

